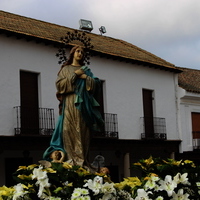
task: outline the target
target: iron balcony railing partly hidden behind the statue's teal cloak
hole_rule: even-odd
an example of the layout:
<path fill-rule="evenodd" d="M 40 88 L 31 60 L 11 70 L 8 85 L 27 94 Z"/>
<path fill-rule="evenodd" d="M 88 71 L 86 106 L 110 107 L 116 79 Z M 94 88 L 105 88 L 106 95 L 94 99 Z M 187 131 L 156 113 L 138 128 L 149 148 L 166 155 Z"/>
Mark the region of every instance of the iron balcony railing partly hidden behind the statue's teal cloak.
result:
<path fill-rule="evenodd" d="M 94 138 L 118 139 L 117 114 L 104 113 L 104 127 L 100 132 L 93 132 Z"/>

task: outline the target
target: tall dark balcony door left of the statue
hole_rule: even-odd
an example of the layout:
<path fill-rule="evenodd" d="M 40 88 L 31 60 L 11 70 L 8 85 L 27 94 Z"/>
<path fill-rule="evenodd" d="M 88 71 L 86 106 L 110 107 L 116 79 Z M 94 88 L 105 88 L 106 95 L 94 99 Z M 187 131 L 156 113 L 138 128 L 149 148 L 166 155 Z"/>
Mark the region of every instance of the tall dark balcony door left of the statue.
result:
<path fill-rule="evenodd" d="M 39 133 L 38 74 L 20 71 L 21 134 Z"/>

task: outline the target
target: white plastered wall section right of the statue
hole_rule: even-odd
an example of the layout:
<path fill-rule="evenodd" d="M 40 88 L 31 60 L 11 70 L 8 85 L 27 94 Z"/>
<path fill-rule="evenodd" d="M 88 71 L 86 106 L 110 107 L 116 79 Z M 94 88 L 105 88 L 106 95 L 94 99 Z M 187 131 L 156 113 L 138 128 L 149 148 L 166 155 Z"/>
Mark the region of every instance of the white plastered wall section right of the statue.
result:
<path fill-rule="evenodd" d="M 96 76 L 105 80 L 105 112 L 118 115 L 120 139 L 141 138 L 143 88 L 154 90 L 154 116 L 166 119 L 167 138 L 179 139 L 175 95 L 177 74 L 96 57 L 90 67 Z"/>

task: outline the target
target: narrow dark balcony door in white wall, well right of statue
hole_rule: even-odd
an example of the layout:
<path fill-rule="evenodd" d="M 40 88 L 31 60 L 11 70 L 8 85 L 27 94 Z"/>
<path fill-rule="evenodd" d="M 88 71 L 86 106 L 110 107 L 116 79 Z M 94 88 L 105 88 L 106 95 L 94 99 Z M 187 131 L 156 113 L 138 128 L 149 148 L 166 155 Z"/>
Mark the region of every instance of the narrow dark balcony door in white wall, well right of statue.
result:
<path fill-rule="evenodd" d="M 153 123 L 153 91 L 142 90 L 143 94 L 143 112 L 144 112 L 144 130 L 145 137 L 154 136 L 154 123 Z"/>

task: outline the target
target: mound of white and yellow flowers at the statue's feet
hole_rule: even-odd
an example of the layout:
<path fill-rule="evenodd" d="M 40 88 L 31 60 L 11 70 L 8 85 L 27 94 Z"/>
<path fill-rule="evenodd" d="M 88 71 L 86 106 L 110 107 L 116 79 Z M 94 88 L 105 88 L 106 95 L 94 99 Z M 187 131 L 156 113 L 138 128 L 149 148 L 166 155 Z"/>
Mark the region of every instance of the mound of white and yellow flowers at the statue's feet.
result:
<path fill-rule="evenodd" d="M 108 200 L 125 195 L 131 197 L 128 192 L 119 191 L 107 175 L 90 173 L 67 162 L 51 163 L 50 167 L 35 164 L 20 166 L 14 173 L 14 179 L 19 182 L 17 185 L 0 188 L 0 200 Z"/>

